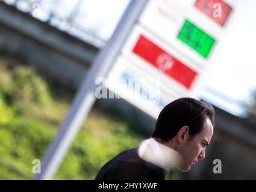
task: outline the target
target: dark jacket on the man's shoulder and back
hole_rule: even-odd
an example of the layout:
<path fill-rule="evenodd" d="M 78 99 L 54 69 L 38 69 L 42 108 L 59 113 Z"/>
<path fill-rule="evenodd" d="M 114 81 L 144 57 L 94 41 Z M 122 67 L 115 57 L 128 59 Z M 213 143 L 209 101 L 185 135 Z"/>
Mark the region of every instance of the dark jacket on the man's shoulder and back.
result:
<path fill-rule="evenodd" d="M 164 180 L 164 173 L 164 169 L 142 160 L 138 148 L 134 148 L 104 164 L 95 180 Z"/>

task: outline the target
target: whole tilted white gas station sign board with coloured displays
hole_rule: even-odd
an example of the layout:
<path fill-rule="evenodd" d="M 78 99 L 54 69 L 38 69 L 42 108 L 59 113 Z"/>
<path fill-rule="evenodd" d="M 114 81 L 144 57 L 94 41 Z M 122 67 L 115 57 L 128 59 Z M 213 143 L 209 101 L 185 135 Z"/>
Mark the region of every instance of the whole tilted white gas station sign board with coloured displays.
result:
<path fill-rule="evenodd" d="M 207 2 L 213 6 L 213 0 L 150 0 L 108 76 L 108 89 L 154 118 L 176 98 L 197 98 L 224 31 L 223 19 L 207 15 Z"/>

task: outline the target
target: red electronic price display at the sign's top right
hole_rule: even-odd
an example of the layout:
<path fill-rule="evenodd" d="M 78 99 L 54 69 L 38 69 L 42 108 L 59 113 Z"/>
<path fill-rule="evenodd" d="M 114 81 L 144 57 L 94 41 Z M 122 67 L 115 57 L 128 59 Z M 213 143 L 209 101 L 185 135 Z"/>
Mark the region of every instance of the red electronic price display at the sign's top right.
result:
<path fill-rule="evenodd" d="M 214 4 L 218 4 L 221 8 L 220 17 L 214 17 L 214 10 L 217 8 L 214 7 Z M 197 0 L 195 7 L 222 26 L 225 25 L 225 22 L 232 11 L 232 8 L 222 0 Z"/>

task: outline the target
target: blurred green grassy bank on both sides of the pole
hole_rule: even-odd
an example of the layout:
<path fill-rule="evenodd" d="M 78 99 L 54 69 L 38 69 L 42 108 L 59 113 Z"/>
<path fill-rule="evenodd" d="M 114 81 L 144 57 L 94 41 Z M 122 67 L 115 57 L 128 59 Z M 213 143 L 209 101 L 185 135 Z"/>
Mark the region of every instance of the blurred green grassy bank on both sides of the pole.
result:
<path fill-rule="evenodd" d="M 31 67 L 0 60 L 0 179 L 31 179 L 32 161 L 42 159 L 57 133 L 70 97 L 52 94 Z M 52 85 L 51 85 L 52 86 Z M 55 87 L 55 89 L 60 89 Z M 58 90 L 58 95 L 67 95 Z M 142 136 L 124 120 L 93 110 L 64 157 L 55 179 L 93 179 L 111 157 L 139 145 Z"/>

